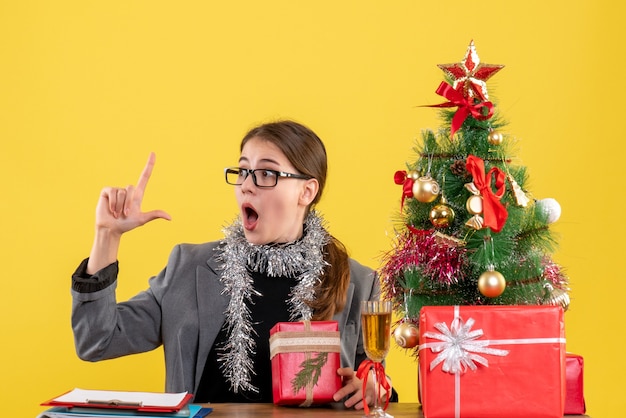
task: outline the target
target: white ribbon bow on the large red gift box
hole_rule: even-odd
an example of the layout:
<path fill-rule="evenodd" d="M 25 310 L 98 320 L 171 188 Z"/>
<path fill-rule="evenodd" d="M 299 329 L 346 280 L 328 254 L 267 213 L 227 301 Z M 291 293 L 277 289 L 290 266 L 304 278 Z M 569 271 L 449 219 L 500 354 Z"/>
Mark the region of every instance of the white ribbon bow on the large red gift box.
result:
<path fill-rule="evenodd" d="M 486 358 L 479 354 L 490 354 L 494 356 L 506 356 L 508 350 L 489 348 L 489 340 L 479 341 L 477 338 L 483 335 L 482 329 L 471 331 L 474 320 L 469 318 L 466 323 L 460 317 L 455 317 L 450 328 L 445 322 L 438 322 L 435 328 L 441 333 L 425 332 L 424 336 L 434 338 L 441 342 L 425 343 L 420 346 L 420 350 L 430 348 L 433 353 L 439 353 L 430 363 L 430 370 L 443 362 L 441 370 L 447 373 L 464 373 L 467 369 L 476 370 L 476 363 L 489 367 Z"/>

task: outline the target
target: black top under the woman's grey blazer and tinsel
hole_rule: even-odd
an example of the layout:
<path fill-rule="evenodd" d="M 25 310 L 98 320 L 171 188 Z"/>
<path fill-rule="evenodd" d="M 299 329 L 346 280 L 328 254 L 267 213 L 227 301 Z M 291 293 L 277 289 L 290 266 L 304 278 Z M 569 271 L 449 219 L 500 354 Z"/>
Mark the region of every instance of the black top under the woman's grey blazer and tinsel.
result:
<path fill-rule="evenodd" d="M 256 350 L 251 355 L 254 369 L 250 383 L 258 388 L 259 392 L 232 392 L 230 383 L 220 370 L 220 347 L 223 347 L 228 338 L 228 332 L 222 328 L 207 357 L 194 402 L 272 402 L 270 329 L 277 322 L 289 322 L 287 301 L 297 281 L 294 278 L 268 277 L 256 272 L 250 272 L 250 275 L 254 289 L 262 295 L 252 295 L 252 303 L 247 303 L 252 316 L 252 327 L 255 331 L 253 337 L 256 343 Z M 205 320 L 210 321 L 211 318 Z"/>

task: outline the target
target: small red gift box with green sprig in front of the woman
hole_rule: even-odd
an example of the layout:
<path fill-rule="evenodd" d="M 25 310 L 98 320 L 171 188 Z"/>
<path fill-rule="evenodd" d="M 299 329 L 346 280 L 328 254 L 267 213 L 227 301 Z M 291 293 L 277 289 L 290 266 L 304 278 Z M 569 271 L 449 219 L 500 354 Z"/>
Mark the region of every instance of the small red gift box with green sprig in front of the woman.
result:
<path fill-rule="evenodd" d="M 276 405 L 334 402 L 341 388 L 337 321 L 279 322 L 270 330 L 272 395 Z"/>

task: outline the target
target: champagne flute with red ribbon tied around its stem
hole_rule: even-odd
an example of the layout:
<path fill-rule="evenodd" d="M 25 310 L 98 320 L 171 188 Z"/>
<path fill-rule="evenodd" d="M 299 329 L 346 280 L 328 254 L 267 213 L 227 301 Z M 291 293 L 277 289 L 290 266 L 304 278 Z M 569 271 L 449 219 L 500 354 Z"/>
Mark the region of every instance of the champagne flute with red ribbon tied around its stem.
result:
<path fill-rule="evenodd" d="M 374 363 L 374 405 L 365 408 L 366 415 L 364 417 L 386 417 L 393 418 L 385 412 L 381 406 L 381 378 L 386 379 L 383 367 L 383 360 L 389 352 L 391 339 L 391 301 L 364 300 L 361 301 L 361 326 L 363 328 L 363 346 L 367 357 Z M 367 375 L 364 379 L 367 379 Z M 391 396 L 387 393 L 385 396 Z M 363 393 L 363 401 L 365 402 L 365 392 Z"/>

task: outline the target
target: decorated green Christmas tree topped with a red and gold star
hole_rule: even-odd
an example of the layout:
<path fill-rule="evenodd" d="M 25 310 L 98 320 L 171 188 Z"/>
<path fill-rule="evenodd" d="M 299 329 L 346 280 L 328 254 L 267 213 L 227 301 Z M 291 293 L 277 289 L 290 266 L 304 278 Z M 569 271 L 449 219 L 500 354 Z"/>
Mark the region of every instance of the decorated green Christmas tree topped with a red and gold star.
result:
<path fill-rule="evenodd" d="M 395 173 L 402 186 L 392 249 L 380 276 L 402 318 L 394 335 L 417 345 L 426 305 L 569 306 L 568 280 L 552 257 L 554 199 L 535 199 L 515 140 L 490 101 L 487 80 L 502 65 L 480 62 L 473 41 L 460 63 L 438 65 L 442 126 L 425 130 L 416 158 Z"/>

